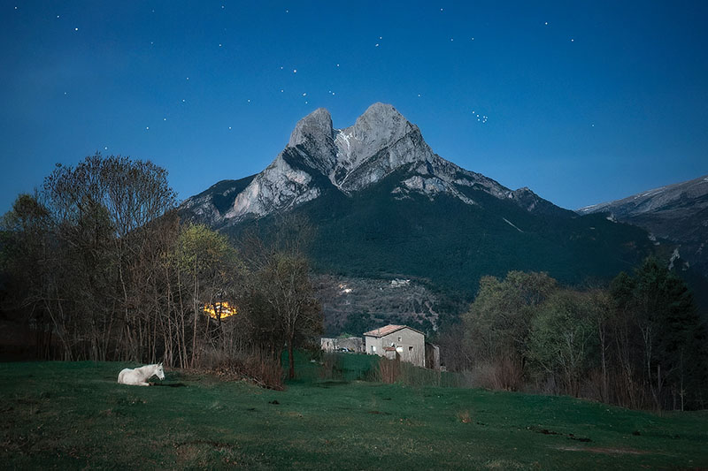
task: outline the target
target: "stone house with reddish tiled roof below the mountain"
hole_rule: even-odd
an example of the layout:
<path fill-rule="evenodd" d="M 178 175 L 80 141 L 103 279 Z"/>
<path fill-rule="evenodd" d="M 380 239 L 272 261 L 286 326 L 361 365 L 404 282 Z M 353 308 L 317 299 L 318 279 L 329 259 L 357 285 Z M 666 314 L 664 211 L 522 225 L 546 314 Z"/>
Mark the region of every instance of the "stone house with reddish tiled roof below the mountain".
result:
<path fill-rule="evenodd" d="M 426 340 L 420 330 L 406 325 L 387 325 L 364 332 L 366 353 L 426 366 Z"/>

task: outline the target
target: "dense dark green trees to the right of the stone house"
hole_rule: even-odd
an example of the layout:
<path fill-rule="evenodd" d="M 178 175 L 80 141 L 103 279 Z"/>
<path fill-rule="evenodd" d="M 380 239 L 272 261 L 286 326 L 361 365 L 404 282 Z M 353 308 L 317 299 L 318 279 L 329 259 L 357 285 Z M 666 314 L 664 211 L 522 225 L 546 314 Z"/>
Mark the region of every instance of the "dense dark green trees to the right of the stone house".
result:
<path fill-rule="evenodd" d="M 545 273 L 483 277 L 462 326 L 442 349 L 473 384 L 633 408 L 708 403 L 704 323 L 685 283 L 654 258 L 606 289 L 561 287 Z"/>

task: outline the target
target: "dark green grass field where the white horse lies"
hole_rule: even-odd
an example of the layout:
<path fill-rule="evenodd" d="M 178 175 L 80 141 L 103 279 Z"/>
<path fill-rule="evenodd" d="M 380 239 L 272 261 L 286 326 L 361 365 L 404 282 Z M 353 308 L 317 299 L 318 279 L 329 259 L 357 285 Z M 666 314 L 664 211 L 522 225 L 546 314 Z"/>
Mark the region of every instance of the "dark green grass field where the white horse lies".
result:
<path fill-rule="evenodd" d="M 280 392 L 169 370 L 116 384 L 126 366 L 0 363 L 0 467 L 708 468 L 707 412 L 325 380 L 309 362 Z"/>

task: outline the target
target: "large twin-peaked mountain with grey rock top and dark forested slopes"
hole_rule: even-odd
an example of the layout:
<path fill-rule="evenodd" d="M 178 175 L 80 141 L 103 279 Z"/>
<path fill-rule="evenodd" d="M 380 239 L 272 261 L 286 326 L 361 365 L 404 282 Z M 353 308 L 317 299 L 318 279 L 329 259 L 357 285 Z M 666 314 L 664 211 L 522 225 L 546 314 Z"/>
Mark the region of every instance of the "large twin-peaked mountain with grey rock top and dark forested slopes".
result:
<path fill-rule="evenodd" d="M 383 103 L 343 129 L 327 110 L 313 111 L 264 171 L 181 205 L 183 218 L 235 239 L 254 222 L 267 232 L 283 212 L 315 226 L 314 269 L 335 280 L 324 282 L 335 296 L 326 308 L 339 313 L 326 316 L 330 333 L 393 320 L 435 329 L 466 309 L 482 276 L 607 280 L 653 249 L 643 229 L 580 216 L 437 156 L 418 126 Z"/>

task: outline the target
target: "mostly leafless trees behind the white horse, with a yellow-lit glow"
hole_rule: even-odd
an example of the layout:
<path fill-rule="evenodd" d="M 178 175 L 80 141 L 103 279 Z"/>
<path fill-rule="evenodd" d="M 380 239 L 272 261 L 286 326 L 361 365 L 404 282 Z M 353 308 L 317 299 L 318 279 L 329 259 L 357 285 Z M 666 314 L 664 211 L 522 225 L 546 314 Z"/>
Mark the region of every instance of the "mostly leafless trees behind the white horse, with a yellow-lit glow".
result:
<path fill-rule="evenodd" d="M 232 368 L 278 386 L 282 346 L 322 325 L 307 259 L 287 235 L 306 224 L 282 224 L 267 245 L 245 236 L 237 251 L 181 223 L 166 177 L 96 154 L 19 195 L 0 232 L 5 315 L 36 332 L 41 358 Z"/>

